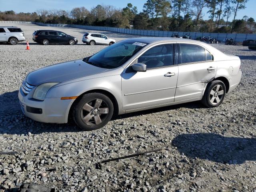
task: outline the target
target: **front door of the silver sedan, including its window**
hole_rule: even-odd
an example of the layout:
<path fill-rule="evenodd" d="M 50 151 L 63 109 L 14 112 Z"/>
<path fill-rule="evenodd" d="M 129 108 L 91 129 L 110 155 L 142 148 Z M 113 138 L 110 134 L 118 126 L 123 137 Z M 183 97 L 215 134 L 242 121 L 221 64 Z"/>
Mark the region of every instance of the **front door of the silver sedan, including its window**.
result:
<path fill-rule="evenodd" d="M 144 63 L 146 72 L 128 66 L 122 73 L 122 101 L 126 111 L 174 102 L 178 66 L 174 65 L 174 44 L 156 45 L 135 63 Z"/>

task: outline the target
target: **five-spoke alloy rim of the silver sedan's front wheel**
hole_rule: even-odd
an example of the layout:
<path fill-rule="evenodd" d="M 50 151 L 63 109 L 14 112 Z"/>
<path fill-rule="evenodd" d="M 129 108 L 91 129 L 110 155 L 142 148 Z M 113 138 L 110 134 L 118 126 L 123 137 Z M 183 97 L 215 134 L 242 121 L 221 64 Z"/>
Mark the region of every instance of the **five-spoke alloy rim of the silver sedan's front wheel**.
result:
<path fill-rule="evenodd" d="M 96 98 L 84 104 L 81 109 L 81 119 L 86 125 L 95 126 L 106 120 L 108 112 L 108 104 Z"/>

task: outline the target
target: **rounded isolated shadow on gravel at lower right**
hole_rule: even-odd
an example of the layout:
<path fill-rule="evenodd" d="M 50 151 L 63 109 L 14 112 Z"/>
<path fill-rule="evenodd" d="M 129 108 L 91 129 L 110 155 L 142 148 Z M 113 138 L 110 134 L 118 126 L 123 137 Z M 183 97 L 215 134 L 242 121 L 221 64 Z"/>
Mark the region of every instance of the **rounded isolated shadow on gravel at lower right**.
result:
<path fill-rule="evenodd" d="M 243 164 L 256 161 L 256 139 L 224 137 L 219 134 L 180 134 L 172 140 L 180 153 L 223 164 Z"/>

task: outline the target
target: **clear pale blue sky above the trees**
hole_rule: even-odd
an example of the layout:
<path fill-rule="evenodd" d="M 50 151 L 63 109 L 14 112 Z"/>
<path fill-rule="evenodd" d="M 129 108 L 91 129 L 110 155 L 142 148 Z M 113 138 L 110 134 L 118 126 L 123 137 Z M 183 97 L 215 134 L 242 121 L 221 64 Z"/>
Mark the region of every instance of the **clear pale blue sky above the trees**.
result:
<path fill-rule="evenodd" d="M 137 6 L 138 12 L 142 11 L 143 5 L 146 0 L 0 0 L 0 11 L 14 10 L 18 12 L 36 12 L 38 9 L 62 9 L 72 10 L 75 7 L 84 6 L 88 10 L 97 6 L 98 4 L 112 5 L 116 8 L 124 8 L 128 3 L 133 6 Z M 256 20 L 256 0 L 249 0 L 246 3 L 244 10 L 239 10 L 237 19 L 241 19 L 243 16 L 252 17 Z M 209 14 L 204 10 L 204 19 L 209 18 Z M 234 18 L 231 16 L 230 20 Z"/>

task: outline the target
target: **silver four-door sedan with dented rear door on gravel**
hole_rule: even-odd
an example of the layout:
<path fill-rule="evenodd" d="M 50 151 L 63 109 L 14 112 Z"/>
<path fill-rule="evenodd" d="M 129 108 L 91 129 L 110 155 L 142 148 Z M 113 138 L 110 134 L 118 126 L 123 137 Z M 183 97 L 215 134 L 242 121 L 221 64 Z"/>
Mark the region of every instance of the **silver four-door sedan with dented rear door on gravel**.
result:
<path fill-rule="evenodd" d="M 187 39 L 133 38 L 84 58 L 29 73 L 19 91 L 23 113 L 82 130 L 113 115 L 201 100 L 220 105 L 238 86 L 240 59 Z"/>

